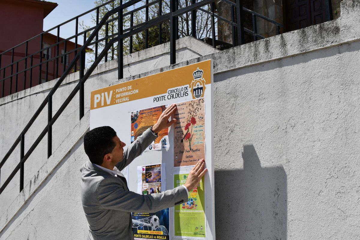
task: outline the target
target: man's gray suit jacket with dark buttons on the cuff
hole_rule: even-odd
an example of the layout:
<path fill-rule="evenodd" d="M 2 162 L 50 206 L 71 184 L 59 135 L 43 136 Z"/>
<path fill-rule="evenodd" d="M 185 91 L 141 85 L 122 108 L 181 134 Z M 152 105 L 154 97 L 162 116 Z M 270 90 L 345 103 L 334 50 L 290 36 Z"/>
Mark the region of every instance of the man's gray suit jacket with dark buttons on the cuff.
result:
<path fill-rule="evenodd" d="M 116 165 L 122 170 L 147 148 L 156 136 L 146 130 L 125 151 Z M 146 164 L 146 163 L 144 163 Z M 92 240 L 134 239 L 131 212 L 151 213 L 187 201 L 183 186 L 158 194 L 141 195 L 129 191 L 125 182 L 94 166 L 88 160 L 81 171 L 81 201 Z M 118 176 L 123 176 L 120 171 Z"/>

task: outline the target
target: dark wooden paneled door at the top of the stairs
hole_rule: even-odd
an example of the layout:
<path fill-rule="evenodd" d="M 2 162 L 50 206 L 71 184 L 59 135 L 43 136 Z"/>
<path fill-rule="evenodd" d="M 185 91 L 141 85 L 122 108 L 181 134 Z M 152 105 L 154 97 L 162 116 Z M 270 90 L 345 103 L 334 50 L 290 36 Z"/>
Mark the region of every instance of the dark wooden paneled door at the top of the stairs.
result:
<path fill-rule="evenodd" d="M 329 0 L 284 0 L 285 31 L 329 21 Z"/>

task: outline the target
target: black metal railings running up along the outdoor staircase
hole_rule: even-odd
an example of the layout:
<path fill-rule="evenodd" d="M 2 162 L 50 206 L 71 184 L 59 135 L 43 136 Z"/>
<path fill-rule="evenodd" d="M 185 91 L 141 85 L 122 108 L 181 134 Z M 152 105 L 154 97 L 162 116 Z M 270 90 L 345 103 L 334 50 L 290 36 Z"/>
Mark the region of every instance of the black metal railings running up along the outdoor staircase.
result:
<path fill-rule="evenodd" d="M 141 32 L 145 32 L 145 48 L 147 47 L 151 47 L 151 45 L 149 44 L 148 40 L 149 40 L 149 31 L 152 30 L 154 27 L 158 27 L 158 41 L 156 41 L 156 44 L 161 44 L 163 41 L 163 35 L 162 35 L 162 24 L 167 24 L 168 23 L 168 32 L 169 32 L 169 40 L 170 40 L 170 64 L 175 64 L 176 63 L 176 46 L 175 46 L 175 40 L 179 38 L 179 25 L 178 25 L 178 20 L 179 17 L 183 14 L 188 14 L 190 13 L 190 26 L 192 26 L 192 32 L 191 32 L 191 36 L 199 36 L 197 35 L 196 32 L 196 17 L 197 17 L 197 13 L 198 11 L 202 11 L 206 14 L 209 14 L 211 16 L 211 37 L 212 37 L 212 46 L 216 46 L 216 29 L 215 29 L 215 18 L 217 18 L 217 21 L 224 21 L 228 24 L 230 24 L 231 29 L 232 29 L 232 46 L 237 46 L 237 45 L 241 45 L 244 43 L 244 34 L 250 34 L 253 36 L 253 40 L 257 40 L 258 38 L 263 38 L 261 35 L 259 35 L 257 33 L 257 27 L 256 27 L 256 17 L 260 17 L 263 18 L 265 21 L 268 21 L 270 23 L 275 24 L 276 29 L 277 29 L 277 34 L 280 33 L 280 27 L 282 27 L 282 24 L 277 23 L 269 18 L 266 18 L 260 14 L 257 14 L 255 12 L 252 12 L 251 10 L 248 10 L 246 8 L 243 8 L 242 3 L 240 0 L 236 0 L 235 3 L 229 1 L 229 0 L 222 0 L 226 3 L 229 4 L 230 8 L 231 8 L 231 19 L 226 19 L 224 17 L 222 17 L 219 13 L 215 13 L 215 0 L 191 0 L 190 5 L 185 6 L 183 8 L 179 9 L 179 4 L 178 4 L 178 0 L 169 0 L 168 2 L 166 2 L 165 0 L 155 0 L 149 3 L 148 0 L 145 0 L 145 4 L 139 6 L 139 4 L 142 2 L 141 0 L 130 0 L 126 3 L 121 4 L 120 6 L 117 6 L 116 8 L 108 11 L 104 17 L 101 19 L 101 21 L 99 21 L 99 8 L 102 6 L 98 6 L 95 8 L 96 11 L 96 26 L 91 27 L 89 29 L 87 29 L 86 31 L 82 31 L 82 32 L 78 32 L 78 17 L 77 16 L 73 19 L 70 19 L 69 21 L 72 21 L 75 19 L 76 21 L 76 34 L 70 38 L 67 39 L 60 39 L 59 37 L 59 29 L 60 29 L 60 25 L 57 27 L 52 28 L 51 30 L 57 30 L 57 42 L 55 44 L 52 44 L 50 46 L 46 46 L 43 47 L 42 41 L 43 41 L 43 37 L 45 33 L 48 33 L 49 31 L 43 32 L 40 35 L 36 36 L 36 37 L 40 37 L 41 38 L 41 47 L 39 51 L 35 51 L 34 53 L 31 53 L 30 55 L 28 55 L 28 45 L 29 45 L 29 41 L 31 40 L 27 40 L 26 42 L 24 42 L 23 44 L 17 45 L 15 47 L 13 47 L 12 49 L 5 51 L 4 53 L 0 54 L 0 61 L 1 61 L 1 57 L 4 56 L 3 54 L 9 53 L 11 52 L 11 57 L 12 57 L 12 63 L 9 65 L 6 65 L 5 67 L 0 67 L 0 73 L 3 72 L 3 79 L 1 80 L 3 82 L 3 86 L 4 86 L 4 81 L 6 79 L 9 79 L 10 81 L 12 81 L 12 78 L 15 77 L 15 81 L 18 80 L 18 76 L 19 74 L 24 74 L 25 79 L 24 79 L 24 86 L 26 85 L 26 76 L 27 76 L 27 72 L 30 72 L 30 82 L 32 82 L 32 72 L 33 72 L 33 68 L 37 67 L 40 68 L 40 78 L 41 78 L 41 71 L 42 71 L 42 65 L 45 64 L 45 73 L 47 74 L 49 69 L 48 69 L 48 65 L 49 62 L 51 60 L 55 60 L 55 64 L 56 64 L 56 69 L 54 68 L 53 70 L 55 71 L 55 74 L 58 74 L 59 72 L 59 58 L 60 61 L 62 61 L 64 63 L 63 69 L 62 69 L 62 73 L 61 76 L 59 77 L 59 79 L 57 80 L 57 82 L 55 83 L 54 87 L 51 89 L 51 91 L 49 92 L 48 96 L 46 96 L 46 98 L 44 99 L 44 101 L 41 103 L 40 107 L 36 110 L 35 114 L 31 117 L 30 121 L 27 123 L 27 125 L 24 127 L 24 129 L 22 130 L 22 132 L 20 133 L 20 135 L 17 137 L 17 139 L 15 140 L 14 144 L 11 146 L 10 150 L 5 154 L 5 156 L 3 157 L 3 159 L 0 162 L 0 170 L 1 167 L 4 166 L 4 163 L 6 162 L 6 160 L 8 160 L 8 158 L 10 157 L 10 155 L 13 153 L 14 149 L 18 146 L 18 144 L 20 144 L 20 162 L 15 166 L 15 168 L 13 169 L 13 171 L 10 173 L 9 177 L 5 180 L 5 182 L 3 183 L 3 185 L 0 186 L 0 194 L 4 191 L 5 187 L 9 184 L 9 182 L 13 179 L 13 177 L 15 176 L 15 174 L 20 170 L 20 191 L 23 190 L 23 186 L 24 186 L 24 163 L 26 162 L 26 160 L 29 158 L 29 156 L 31 155 L 31 153 L 34 151 L 34 149 L 36 148 L 37 145 L 39 145 L 40 141 L 44 138 L 44 136 L 48 135 L 48 151 L 47 151 L 47 156 L 48 158 L 51 156 L 52 154 L 52 126 L 55 123 L 55 121 L 59 118 L 60 114 L 62 114 L 62 112 L 64 111 L 64 109 L 67 107 L 67 105 L 70 103 L 70 101 L 74 98 L 74 96 L 77 94 L 77 92 L 79 92 L 79 106 L 80 106 L 80 119 L 84 116 L 84 83 L 87 80 L 87 78 L 90 76 L 90 74 L 94 71 L 94 69 L 97 67 L 97 65 L 102 62 L 102 61 L 107 61 L 107 56 L 108 56 L 108 51 L 109 49 L 111 49 L 111 47 L 117 43 L 117 53 L 118 53 L 118 79 L 123 78 L 123 55 L 124 55 L 124 46 L 129 46 L 129 53 L 132 52 L 132 44 L 133 44 L 133 39 L 134 36 L 136 36 L 136 34 L 139 34 Z M 111 3 L 113 1 L 109 1 L 108 3 Z M 149 11 L 148 8 L 150 6 L 153 6 L 154 4 L 158 4 L 158 14 L 156 17 L 149 19 Z M 168 12 L 164 12 L 163 8 L 162 8 L 162 4 L 168 4 L 169 5 L 169 11 Z M 203 6 L 206 5 L 210 5 L 210 11 L 203 9 Z M 133 6 L 134 9 L 133 10 L 129 10 L 129 8 Z M 144 22 L 140 22 L 134 25 L 134 14 L 138 11 L 141 11 L 142 9 L 145 9 L 145 21 Z M 94 10 L 94 9 L 93 9 Z M 91 10 L 87 11 L 84 14 L 89 13 Z M 84 15 L 82 14 L 82 15 Z M 116 17 L 111 18 L 114 14 L 116 14 Z M 243 26 L 243 15 L 244 14 L 252 14 L 252 18 L 255 19 L 253 22 L 253 30 L 248 30 L 247 28 L 244 28 Z M 124 19 L 126 19 L 126 17 L 130 18 L 130 24 L 128 27 L 125 27 L 124 29 Z M 109 19 L 111 18 L 111 19 Z M 68 23 L 69 21 L 65 22 Z M 108 34 L 108 26 L 109 23 L 113 23 L 116 22 L 117 23 L 117 28 L 118 28 L 118 32 L 112 33 L 112 34 Z M 99 38 L 99 32 L 100 30 L 103 29 L 103 27 L 105 26 L 105 37 Z M 83 39 L 83 43 L 82 46 L 78 46 L 77 44 L 77 37 L 78 36 L 84 36 Z M 32 38 L 32 39 L 36 39 L 36 37 Z M 69 43 L 67 41 L 69 41 L 70 39 L 75 38 L 75 48 L 72 50 L 68 50 L 67 46 L 69 45 Z M 124 44 L 124 40 L 126 39 L 130 39 L 129 41 L 129 45 L 125 45 Z M 100 49 L 99 47 L 99 43 L 100 42 L 105 42 L 104 47 L 102 47 Z M 59 54 L 59 46 L 61 44 L 64 44 L 64 53 Z M 26 46 L 26 53 L 25 53 L 25 57 L 22 59 L 19 59 L 17 61 L 14 62 L 14 49 L 17 47 L 21 47 L 21 46 Z M 90 65 L 90 67 L 88 69 L 85 69 L 85 63 L 86 63 L 86 54 L 89 53 L 89 51 L 91 50 L 89 47 L 90 46 L 94 46 L 95 47 L 95 51 L 93 51 L 92 53 L 94 53 L 94 61 L 93 63 Z M 56 47 L 56 56 L 54 57 L 50 57 L 50 48 L 51 47 Z M 100 50 L 100 53 L 98 52 Z M 42 61 L 42 53 L 46 51 L 46 55 L 45 56 L 45 60 Z M 74 57 L 71 60 L 71 63 L 68 64 L 68 66 L 66 66 L 66 62 L 67 62 L 67 55 L 73 53 Z M 40 55 L 40 59 L 39 59 L 39 63 L 35 63 L 33 62 L 34 56 L 36 54 Z M 112 56 L 113 58 L 114 56 Z M 27 66 L 27 62 L 30 58 L 30 66 Z M 24 69 L 23 70 L 19 70 L 18 66 L 19 63 L 24 61 Z M 1 63 L 0 63 L 1 64 Z M 1 66 L 1 65 L 0 65 Z M 14 74 L 12 72 L 13 70 L 13 66 L 16 66 L 16 73 Z M 11 68 L 11 74 L 9 76 L 5 77 L 5 69 L 6 68 Z M 57 112 L 52 115 L 52 98 L 53 95 L 55 93 L 55 91 L 57 91 L 57 89 L 59 88 L 60 84 L 63 82 L 63 80 L 66 78 L 66 76 L 69 73 L 72 73 L 74 71 L 79 71 L 79 82 L 77 83 L 77 85 L 75 86 L 75 88 L 72 90 L 72 92 L 69 94 L 69 96 L 66 98 L 66 100 L 64 101 L 64 103 L 61 105 L 61 107 L 57 110 Z M 85 72 L 86 71 L 86 72 Z M 1 74 L 0 74 L 1 76 Z M 56 75 L 57 76 L 57 75 Z M 48 80 L 48 79 L 46 79 Z M 39 83 L 41 82 L 41 79 L 39 80 Z M 10 85 L 11 88 L 12 85 Z M 17 85 L 15 85 L 17 86 Z M 31 84 L 30 84 L 31 86 Z M 3 87 L 3 91 L 4 91 L 4 87 Z M 10 90 L 10 94 L 11 94 L 11 90 Z M 4 96 L 4 92 L 3 95 Z M 45 106 L 48 105 L 48 123 L 46 125 L 46 127 L 41 131 L 40 135 L 36 138 L 36 140 L 33 142 L 33 144 L 30 146 L 29 150 L 25 152 L 24 150 L 24 143 L 25 143 L 25 134 L 27 133 L 27 131 L 29 130 L 29 128 L 32 126 L 32 124 L 34 123 L 34 121 L 39 117 L 39 114 L 41 113 L 41 111 L 45 108 Z M 1 173 L 1 172 L 0 172 Z"/>

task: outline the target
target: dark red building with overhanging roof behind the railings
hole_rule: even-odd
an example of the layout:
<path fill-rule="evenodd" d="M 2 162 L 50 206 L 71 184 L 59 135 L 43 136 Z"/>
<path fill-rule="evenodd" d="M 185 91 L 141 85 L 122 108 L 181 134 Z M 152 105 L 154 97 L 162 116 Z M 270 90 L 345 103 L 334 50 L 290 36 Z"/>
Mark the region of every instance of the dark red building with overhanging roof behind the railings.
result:
<path fill-rule="evenodd" d="M 40 66 L 37 66 L 31 71 L 27 70 L 26 73 L 23 72 L 17 76 L 14 74 L 23 71 L 25 64 L 27 68 L 30 67 L 30 57 L 27 58 L 26 62 L 22 60 L 14 64 L 12 68 L 6 67 L 12 63 L 12 60 L 13 62 L 17 62 L 25 57 L 26 44 L 18 47 L 14 46 L 42 33 L 44 18 L 57 6 L 57 3 L 40 0 L 0 0 L 0 32 L 2 35 L 2 37 L 0 37 L 0 97 L 9 95 L 10 89 L 11 93 L 14 93 L 60 77 L 64 67 L 66 68 L 74 58 L 75 54 L 70 53 L 66 58 L 58 59 L 58 68 L 56 67 L 56 60 L 51 60 L 48 64 L 41 64 L 41 69 Z M 64 39 L 59 38 L 59 41 L 62 40 Z M 55 43 L 57 43 L 57 36 L 51 33 L 44 33 L 42 42 L 40 36 L 28 41 L 27 56 Z M 77 47 L 80 46 L 81 45 L 77 45 Z M 11 49 L 12 47 L 14 47 L 13 50 Z M 10 51 L 4 53 L 4 51 L 9 49 Z M 66 51 L 64 42 L 59 44 L 59 54 L 73 49 L 75 49 L 74 42 L 66 41 Z M 40 57 L 41 61 L 44 62 L 55 56 L 57 56 L 57 46 L 51 47 L 49 54 L 47 54 L 45 50 L 42 52 L 42 56 L 40 56 L 40 53 L 33 55 L 32 65 L 39 64 Z M 4 67 L 6 68 L 3 69 Z M 58 71 L 57 75 L 56 71 Z M 11 73 L 13 73 L 13 76 L 9 78 L 9 76 L 12 75 Z"/>

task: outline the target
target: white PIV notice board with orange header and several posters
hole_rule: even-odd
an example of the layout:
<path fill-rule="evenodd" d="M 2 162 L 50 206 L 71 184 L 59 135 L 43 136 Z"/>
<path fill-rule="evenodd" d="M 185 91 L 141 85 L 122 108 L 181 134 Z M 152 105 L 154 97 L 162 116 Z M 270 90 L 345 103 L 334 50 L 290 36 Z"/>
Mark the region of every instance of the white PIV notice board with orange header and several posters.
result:
<path fill-rule="evenodd" d="M 212 60 L 91 92 L 90 129 L 111 126 L 126 145 L 176 103 L 177 122 L 122 170 L 130 191 L 158 194 L 185 184 L 198 159 L 208 172 L 185 203 L 132 213 L 135 239 L 215 239 Z M 125 147 L 126 148 L 126 147 Z"/>

